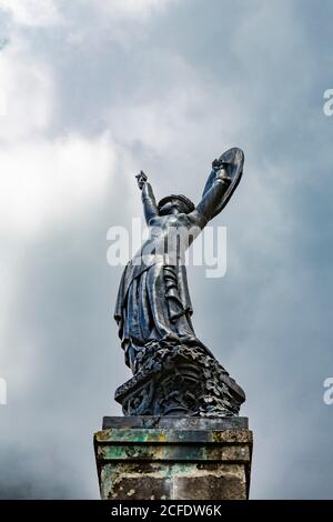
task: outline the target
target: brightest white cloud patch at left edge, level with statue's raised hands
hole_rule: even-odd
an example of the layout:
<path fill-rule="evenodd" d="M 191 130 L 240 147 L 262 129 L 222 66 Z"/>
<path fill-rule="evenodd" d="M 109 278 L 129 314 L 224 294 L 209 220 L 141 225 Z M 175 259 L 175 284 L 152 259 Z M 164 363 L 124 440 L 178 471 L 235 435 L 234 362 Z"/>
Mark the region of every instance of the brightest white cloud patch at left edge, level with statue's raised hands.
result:
<path fill-rule="evenodd" d="M 30 237 L 64 224 L 104 195 L 115 154 L 109 134 L 40 139 L 0 149 L 0 230 Z"/>

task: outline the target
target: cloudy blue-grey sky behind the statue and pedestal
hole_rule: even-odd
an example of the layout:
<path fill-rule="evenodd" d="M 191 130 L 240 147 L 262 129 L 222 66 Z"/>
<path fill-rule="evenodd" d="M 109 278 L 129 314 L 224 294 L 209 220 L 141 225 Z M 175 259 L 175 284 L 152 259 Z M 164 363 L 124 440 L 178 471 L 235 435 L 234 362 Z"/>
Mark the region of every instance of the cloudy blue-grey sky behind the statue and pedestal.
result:
<path fill-rule="evenodd" d="M 333 3 L 0 0 L 0 498 L 98 498 L 92 434 L 129 377 L 107 232 L 133 174 L 198 201 L 238 145 L 214 225 L 228 272 L 190 268 L 196 333 L 245 389 L 251 496 L 333 496 Z"/>

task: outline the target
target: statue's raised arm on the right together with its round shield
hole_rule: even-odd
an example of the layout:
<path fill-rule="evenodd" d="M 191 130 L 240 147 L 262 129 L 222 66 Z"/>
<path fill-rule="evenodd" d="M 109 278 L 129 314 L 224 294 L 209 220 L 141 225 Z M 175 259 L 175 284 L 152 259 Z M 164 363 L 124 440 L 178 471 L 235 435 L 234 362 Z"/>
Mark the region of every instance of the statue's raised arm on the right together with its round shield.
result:
<path fill-rule="evenodd" d="M 243 164 L 244 154 L 238 148 L 229 149 L 213 161 L 202 199 L 192 213 L 201 228 L 226 205 L 241 180 Z"/>

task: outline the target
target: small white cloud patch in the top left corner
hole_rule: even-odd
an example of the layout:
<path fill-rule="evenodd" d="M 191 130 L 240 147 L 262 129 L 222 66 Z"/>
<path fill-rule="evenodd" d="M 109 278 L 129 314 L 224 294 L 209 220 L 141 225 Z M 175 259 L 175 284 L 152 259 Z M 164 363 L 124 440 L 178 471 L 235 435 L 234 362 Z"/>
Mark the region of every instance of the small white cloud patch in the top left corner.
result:
<path fill-rule="evenodd" d="M 61 20 L 53 0 L 0 0 L 0 8 L 9 11 L 19 26 L 47 27 Z"/>

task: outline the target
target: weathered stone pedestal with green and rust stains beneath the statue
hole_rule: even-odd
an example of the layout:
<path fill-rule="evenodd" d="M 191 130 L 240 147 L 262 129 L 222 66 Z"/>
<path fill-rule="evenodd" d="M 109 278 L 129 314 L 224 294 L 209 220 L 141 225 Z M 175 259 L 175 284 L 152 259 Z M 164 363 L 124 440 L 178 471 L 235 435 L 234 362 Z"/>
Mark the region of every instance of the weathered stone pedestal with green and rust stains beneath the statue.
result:
<path fill-rule="evenodd" d="M 107 416 L 94 435 L 102 499 L 248 499 L 246 418 Z"/>

